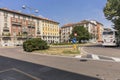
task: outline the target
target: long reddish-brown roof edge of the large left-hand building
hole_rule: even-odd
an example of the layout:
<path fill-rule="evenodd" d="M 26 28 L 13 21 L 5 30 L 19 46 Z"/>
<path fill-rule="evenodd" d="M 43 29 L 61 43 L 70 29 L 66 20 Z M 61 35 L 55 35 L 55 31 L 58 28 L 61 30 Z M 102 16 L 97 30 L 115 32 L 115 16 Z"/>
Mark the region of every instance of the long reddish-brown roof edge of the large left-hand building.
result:
<path fill-rule="evenodd" d="M 10 13 L 20 14 L 20 15 L 28 16 L 28 17 L 32 17 L 32 18 L 37 18 L 37 19 L 41 19 L 41 20 L 46 20 L 46 21 L 50 21 L 50 22 L 59 24 L 59 22 L 50 20 L 50 19 L 48 19 L 48 18 L 42 18 L 42 17 L 38 17 L 38 16 L 35 16 L 35 15 L 25 14 L 25 13 L 21 13 L 21 12 L 19 12 L 19 11 L 15 11 L 15 10 L 9 10 L 9 9 L 7 9 L 7 8 L 0 8 L 0 10 L 1 10 L 1 11 L 7 11 L 7 12 L 10 12 Z"/>

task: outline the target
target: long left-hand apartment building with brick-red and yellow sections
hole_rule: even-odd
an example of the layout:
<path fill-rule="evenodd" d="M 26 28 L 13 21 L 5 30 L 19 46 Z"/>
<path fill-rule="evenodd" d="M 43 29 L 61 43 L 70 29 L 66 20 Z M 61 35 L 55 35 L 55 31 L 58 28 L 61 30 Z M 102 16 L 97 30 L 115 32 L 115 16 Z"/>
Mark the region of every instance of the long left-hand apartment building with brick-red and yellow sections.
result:
<path fill-rule="evenodd" d="M 48 43 L 59 42 L 59 23 L 47 18 L 0 8 L 0 45 L 21 45 L 38 37 Z"/>

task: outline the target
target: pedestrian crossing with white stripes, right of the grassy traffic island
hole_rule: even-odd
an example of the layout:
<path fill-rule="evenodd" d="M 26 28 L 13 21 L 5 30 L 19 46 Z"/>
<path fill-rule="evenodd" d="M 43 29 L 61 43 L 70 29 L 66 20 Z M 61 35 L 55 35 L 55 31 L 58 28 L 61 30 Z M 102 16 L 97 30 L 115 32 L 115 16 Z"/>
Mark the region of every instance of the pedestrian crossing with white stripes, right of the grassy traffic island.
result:
<path fill-rule="evenodd" d="M 86 55 L 81 56 L 80 59 L 120 62 L 120 58 L 95 55 L 95 54 L 86 54 Z"/>

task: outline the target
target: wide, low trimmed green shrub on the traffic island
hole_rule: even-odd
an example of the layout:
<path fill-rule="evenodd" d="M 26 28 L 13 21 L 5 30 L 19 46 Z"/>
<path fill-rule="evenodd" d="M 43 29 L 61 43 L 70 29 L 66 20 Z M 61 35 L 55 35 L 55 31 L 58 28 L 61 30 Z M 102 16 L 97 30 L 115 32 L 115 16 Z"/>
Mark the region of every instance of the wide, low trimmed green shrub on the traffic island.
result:
<path fill-rule="evenodd" d="M 24 51 L 27 51 L 27 52 L 32 52 L 34 50 L 44 50 L 48 48 L 49 46 L 47 42 L 40 38 L 32 38 L 32 39 L 26 40 L 23 43 L 23 49 Z"/>

